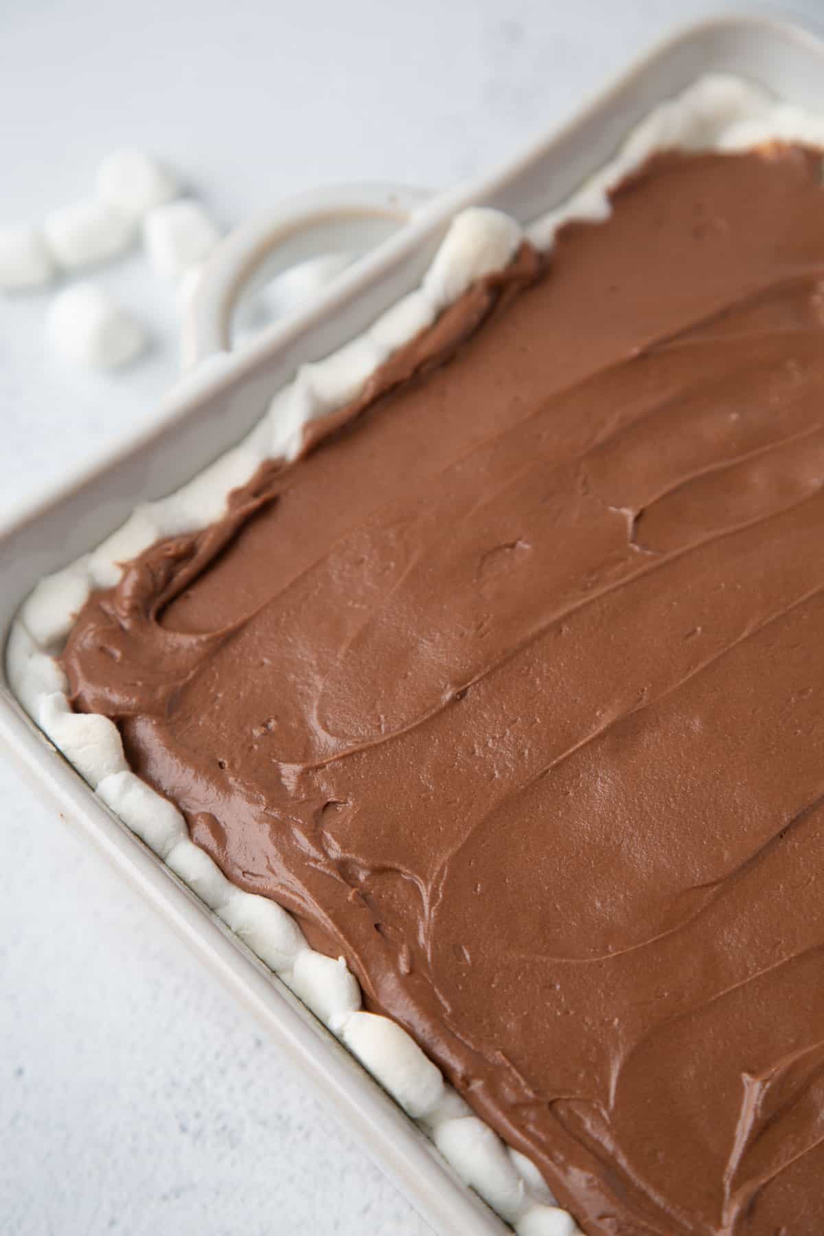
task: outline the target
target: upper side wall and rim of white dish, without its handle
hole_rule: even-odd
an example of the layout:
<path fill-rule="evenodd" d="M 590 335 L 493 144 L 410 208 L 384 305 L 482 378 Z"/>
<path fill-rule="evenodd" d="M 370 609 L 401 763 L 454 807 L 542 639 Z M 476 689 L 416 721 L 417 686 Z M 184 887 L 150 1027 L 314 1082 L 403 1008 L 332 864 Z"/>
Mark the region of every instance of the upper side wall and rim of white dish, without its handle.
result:
<path fill-rule="evenodd" d="M 0 632 L 33 585 L 120 527 L 133 507 L 163 497 L 235 445 L 296 368 L 364 330 L 420 283 L 451 216 L 469 204 L 529 222 L 570 197 L 662 99 L 705 72 L 736 73 L 791 103 L 822 108 L 823 44 L 759 19 L 702 23 L 654 52 L 503 172 L 441 194 L 415 220 L 345 272 L 316 305 L 210 362 L 166 400 L 164 423 L 0 536 Z M 7 693 L 7 691 L 6 691 Z"/>

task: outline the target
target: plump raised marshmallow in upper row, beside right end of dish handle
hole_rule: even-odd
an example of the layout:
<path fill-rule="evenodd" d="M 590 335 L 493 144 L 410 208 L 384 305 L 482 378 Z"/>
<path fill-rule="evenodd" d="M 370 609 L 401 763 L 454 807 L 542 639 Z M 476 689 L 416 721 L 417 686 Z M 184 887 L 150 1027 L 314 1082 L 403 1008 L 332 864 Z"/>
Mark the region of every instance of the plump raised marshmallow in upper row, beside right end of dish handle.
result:
<path fill-rule="evenodd" d="M 439 310 L 452 304 L 476 279 L 503 271 L 523 235 L 515 220 L 500 210 L 484 206 L 462 210 L 450 224 L 424 276 L 424 292 Z"/>

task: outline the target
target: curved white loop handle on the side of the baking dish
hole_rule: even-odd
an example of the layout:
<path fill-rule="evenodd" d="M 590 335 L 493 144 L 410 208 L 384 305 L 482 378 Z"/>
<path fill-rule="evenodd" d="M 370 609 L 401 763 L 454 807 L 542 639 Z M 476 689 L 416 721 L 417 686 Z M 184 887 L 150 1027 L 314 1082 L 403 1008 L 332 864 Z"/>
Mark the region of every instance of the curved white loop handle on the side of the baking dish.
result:
<path fill-rule="evenodd" d="M 232 313 L 241 295 L 309 258 L 345 255 L 343 261 L 329 263 L 334 278 L 347 265 L 346 256 L 380 243 L 429 197 L 426 190 L 395 184 L 336 185 L 289 198 L 236 227 L 206 262 L 184 310 L 184 368 L 231 349 Z"/>

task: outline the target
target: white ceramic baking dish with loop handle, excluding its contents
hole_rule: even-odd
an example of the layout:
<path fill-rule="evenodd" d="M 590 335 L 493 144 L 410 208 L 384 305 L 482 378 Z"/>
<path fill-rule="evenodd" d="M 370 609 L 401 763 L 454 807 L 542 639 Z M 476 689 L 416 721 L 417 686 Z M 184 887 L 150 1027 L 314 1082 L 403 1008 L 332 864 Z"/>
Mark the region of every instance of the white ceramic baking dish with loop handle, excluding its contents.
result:
<path fill-rule="evenodd" d="M 2 644 L 42 576 L 98 545 L 138 502 L 170 492 L 226 451 L 300 363 L 338 347 L 415 287 L 457 210 L 483 204 L 530 221 L 600 167 L 655 104 L 707 72 L 740 74 L 799 106 L 824 109 L 820 40 L 781 21 L 719 19 L 656 47 L 571 122 L 468 188 L 437 197 L 394 187 L 316 192 L 238 229 L 190 305 L 188 373 L 167 398 L 162 425 L 0 531 Z M 310 309 L 232 352 L 231 316 L 241 293 L 330 250 L 369 252 Z M 104 806 L 33 726 L 1 670 L 0 738 L 61 817 L 82 829 L 248 1005 L 437 1232 L 505 1230 L 320 1022 Z"/>

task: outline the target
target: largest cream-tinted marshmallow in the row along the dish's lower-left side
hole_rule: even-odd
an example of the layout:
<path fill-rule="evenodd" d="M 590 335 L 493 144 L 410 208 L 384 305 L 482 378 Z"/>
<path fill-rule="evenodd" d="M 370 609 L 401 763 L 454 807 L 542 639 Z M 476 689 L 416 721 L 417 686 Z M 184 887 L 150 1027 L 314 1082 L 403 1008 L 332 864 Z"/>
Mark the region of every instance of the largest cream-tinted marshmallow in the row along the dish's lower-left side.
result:
<path fill-rule="evenodd" d="M 440 1101 L 441 1070 L 397 1022 L 373 1012 L 353 1012 L 341 1038 L 413 1120 Z"/>

